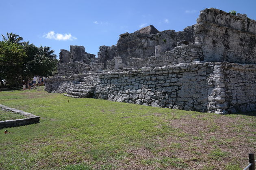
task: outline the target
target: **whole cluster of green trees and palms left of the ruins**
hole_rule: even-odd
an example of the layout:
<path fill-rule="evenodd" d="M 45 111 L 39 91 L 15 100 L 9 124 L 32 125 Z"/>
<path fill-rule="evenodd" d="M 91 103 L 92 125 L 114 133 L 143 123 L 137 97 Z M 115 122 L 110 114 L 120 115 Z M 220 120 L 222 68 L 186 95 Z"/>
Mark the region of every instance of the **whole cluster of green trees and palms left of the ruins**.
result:
<path fill-rule="evenodd" d="M 0 48 L 0 81 L 9 86 L 18 85 L 22 79 L 31 79 L 34 75 L 47 77 L 56 72 L 58 60 L 50 47 L 36 47 L 23 40 L 17 34 L 2 35 Z"/>

